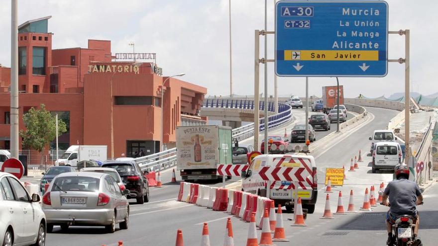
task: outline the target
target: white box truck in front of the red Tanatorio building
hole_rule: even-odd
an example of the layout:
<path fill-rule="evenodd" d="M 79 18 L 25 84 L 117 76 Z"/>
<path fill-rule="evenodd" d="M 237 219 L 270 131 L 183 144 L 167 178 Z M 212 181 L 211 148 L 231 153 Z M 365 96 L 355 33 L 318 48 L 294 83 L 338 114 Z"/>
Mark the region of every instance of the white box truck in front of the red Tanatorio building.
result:
<path fill-rule="evenodd" d="M 78 162 L 96 160 L 107 160 L 106 145 L 72 145 L 55 162 L 55 165 L 77 166 Z"/>

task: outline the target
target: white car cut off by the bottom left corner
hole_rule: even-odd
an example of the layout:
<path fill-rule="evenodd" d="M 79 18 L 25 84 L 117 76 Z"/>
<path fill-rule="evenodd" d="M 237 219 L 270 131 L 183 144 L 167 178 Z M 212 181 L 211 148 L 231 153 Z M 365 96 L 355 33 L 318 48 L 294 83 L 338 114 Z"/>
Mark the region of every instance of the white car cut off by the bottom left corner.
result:
<path fill-rule="evenodd" d="M 0 245 L 44 246 L 46 216 L 38 194 L 29 195 L 12 174 L 0 172 Z"/>

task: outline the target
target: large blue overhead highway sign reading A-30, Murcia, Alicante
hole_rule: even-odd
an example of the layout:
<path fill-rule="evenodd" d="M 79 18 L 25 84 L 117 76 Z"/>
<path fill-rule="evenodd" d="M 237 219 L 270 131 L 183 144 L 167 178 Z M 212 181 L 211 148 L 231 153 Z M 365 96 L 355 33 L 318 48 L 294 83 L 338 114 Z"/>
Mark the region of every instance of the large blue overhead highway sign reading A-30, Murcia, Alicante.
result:
<path fill-rule="evenodd" d="M 275 18 L 278 76 L 386 76 L 386 1 L 284 0 Z"/>

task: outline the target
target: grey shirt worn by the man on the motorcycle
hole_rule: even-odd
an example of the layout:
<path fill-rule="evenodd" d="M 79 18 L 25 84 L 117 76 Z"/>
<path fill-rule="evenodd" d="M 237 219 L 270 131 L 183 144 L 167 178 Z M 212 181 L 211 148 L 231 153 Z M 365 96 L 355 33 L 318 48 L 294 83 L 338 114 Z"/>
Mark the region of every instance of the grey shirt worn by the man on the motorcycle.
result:
<path fill-rule="evenodd" d="M 389 196 L 392 214 L 417 213 L 417 196 L 421 195 L 421 191 L 416 182 L 405 178 L 393 180 L 386 186 L 384 194 Z"/>

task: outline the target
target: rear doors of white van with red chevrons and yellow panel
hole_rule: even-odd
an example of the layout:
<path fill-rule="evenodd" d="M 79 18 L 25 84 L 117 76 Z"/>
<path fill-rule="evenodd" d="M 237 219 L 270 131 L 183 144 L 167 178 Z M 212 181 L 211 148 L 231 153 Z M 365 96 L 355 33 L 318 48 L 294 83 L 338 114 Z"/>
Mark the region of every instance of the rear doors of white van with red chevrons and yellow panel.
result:
<path fill-rule="evenodd" d="M 316 172 L 313 171 L 315 160 L 310 156 L 291 156 L 274 158 L 272 166 L 292 167 L 290 176 L 296 177 L 298 181 L 298 196 L 302 199 L 312 199 L 312 186 Z M 303 169 L 304 168 L 304 169 Z M 295 185 L 291 181 L 270 181 L 270 198 L 292 199 L 294 197 Z"/>

